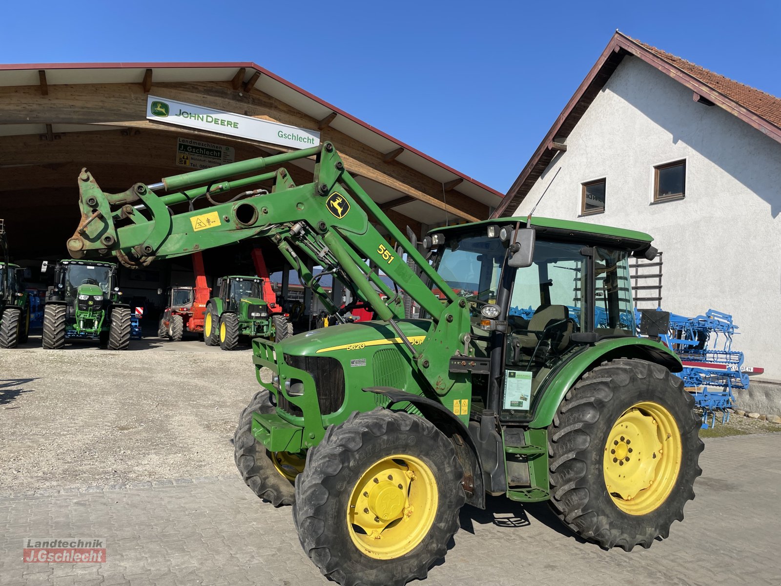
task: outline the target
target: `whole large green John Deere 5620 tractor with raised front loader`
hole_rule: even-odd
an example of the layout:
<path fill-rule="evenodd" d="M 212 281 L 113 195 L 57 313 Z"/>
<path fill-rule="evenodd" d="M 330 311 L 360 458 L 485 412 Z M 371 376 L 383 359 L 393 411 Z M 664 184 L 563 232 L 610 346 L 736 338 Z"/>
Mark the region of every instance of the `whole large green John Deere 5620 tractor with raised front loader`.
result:
<path fill-rule="evenodd" d="M 314 159 L 314 177 L 294 185 L 281 166 L 303 158 Z M 146 266 L 263 237 L 337 320 L 351 307 L 333 306 L 301 257 L 375 313 L 253 340 L 263 390 L 234 436 L 244 481 L 275 506 L 293 505 L 301 545 L 327 577 L 426 577 L 459 509 L 484 508 L 486 495 L 549 501 L 580 537 L 627 551 L 683 519 L 703 444 L 672 376 L 679 360 L 635 334 L 628 260 L 653 258 L 647 234 L 508 217 L 433 230 L 424 256 L 330 142 L 121 194 L 86 171 L 79 185 L 82 220 L 67 244 L 76 258 Z M 404 296 L 417 319 L 405 317 Z M 528 306 L 526 316 L 511 311 Z"/>

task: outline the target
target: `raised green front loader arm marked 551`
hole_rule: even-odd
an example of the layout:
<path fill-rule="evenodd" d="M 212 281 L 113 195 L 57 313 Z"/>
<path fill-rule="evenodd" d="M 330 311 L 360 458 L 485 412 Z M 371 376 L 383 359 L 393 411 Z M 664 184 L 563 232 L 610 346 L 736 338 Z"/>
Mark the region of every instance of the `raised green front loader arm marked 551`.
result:
<path fill-rule="evenodd" d="M 309 157 L 315 159 L 312 183 L 297 186 L 281 165 Z M 269 167 L 277 168 L 255 174 Z M 250 177 L 236 178 L 250 173 Z M 273 181 L 270 193 L 257 187 L 267 181 Z M 324 274 L 333 274 L 356 298 L 372 306 L 376 316 L 397 332 L 437 394 L 448 393 L 454 384 L 467 384 L 462 374 L 448 369 L 451 356 L 469 341 L 465 300 L 344 169 L 330 142 L 166 177 L 157 184 L 139 183 L 121 194 L 104 193 L 91 174 L 82 170 L 79 188 L 81 221 L 67 242 L 74 258 L 116 255 L 126 266 L 147 266 L 154 259 L 189 255 L 248 238 L 269 238 L 330 313 L 337 313 L 338 308 L 302 257 L 312 259 L 323 267 Z M 248 190 L 229 202 L 212 199 L 237 188 Z M 192 209 L 196 200 L 211 205 Z M 191 202 L 186 212 L 176 213 L 170 207 L 184 202 Z M 398 248 L 383 238 L 369 215 L 388 231 Z M 415 265 L 421 277 L 412 268 Z M 370 266 L 380 267 L 396 285 L 395 290 Z M 427 277 L 430 285 L 422 277 Z M 433 320 L 426 341 L 417 348 L 396 323 L 405 316 L 398 288 Z M 444 302 L 432 289 L 443 293 Z"/>

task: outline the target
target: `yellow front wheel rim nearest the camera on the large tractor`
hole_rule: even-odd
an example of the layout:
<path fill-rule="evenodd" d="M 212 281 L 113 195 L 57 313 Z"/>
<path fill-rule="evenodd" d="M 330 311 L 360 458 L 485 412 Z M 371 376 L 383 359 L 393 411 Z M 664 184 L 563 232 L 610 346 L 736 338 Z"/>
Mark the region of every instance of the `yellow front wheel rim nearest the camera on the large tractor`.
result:
<path fill-rule="evenodd" d="M 347 510 L 352 542 L 375 559 L 404 556 L 428 534 L 437 504 L 429 466 L 404 454 L 380 459 L 352 489 Z"/>

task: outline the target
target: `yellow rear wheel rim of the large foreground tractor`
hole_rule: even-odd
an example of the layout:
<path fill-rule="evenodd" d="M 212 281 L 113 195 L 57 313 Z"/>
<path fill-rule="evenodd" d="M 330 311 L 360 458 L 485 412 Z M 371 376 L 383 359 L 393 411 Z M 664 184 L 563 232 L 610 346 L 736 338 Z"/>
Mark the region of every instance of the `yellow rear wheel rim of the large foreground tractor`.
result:
<path fill-rule="evenodd" d="M 646 515 L 665 502 L 678 480 L 681 436 L 672 414 L 646 401 L 626 409 L 604 445 L 604 484 L 615 506 Z"/>

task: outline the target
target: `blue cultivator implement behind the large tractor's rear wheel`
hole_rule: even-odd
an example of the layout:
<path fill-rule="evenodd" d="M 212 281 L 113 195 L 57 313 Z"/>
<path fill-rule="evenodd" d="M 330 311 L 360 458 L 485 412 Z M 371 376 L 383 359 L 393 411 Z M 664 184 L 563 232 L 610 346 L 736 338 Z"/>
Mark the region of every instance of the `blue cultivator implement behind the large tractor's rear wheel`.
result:
<path fill-rule="evenodd" d="M 637 322 L 640 323 L 640 313 Z M 748 374 L 742 371 L 743 352 L 733 350 L 737 326 L 728 313 L 708 309 L 704 316 L 685 317 L 670 314 L 667 334 L 660 338 L 683 363 L 677 376 L 702 409 L 702 427 L 729 421 L 727 408 L 735 400 L 733 389 L 748 388 Z"/>

